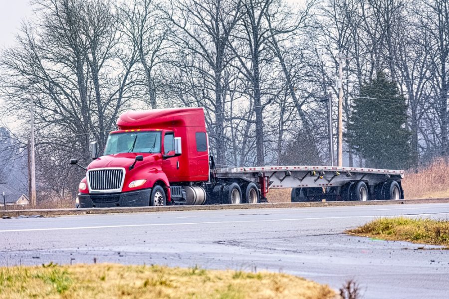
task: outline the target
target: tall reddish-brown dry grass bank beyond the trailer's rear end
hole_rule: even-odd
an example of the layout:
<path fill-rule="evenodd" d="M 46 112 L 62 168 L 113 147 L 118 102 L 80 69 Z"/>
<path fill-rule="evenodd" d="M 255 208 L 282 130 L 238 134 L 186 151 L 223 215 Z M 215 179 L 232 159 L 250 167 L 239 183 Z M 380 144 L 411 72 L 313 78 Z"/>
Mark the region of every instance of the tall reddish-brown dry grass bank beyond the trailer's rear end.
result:
<path fill-rule="evenodd" d="M 406 171 L 402 187 L 406 198 L 449 197 L 449 161 L 438 159 L 429 166 Z"/>

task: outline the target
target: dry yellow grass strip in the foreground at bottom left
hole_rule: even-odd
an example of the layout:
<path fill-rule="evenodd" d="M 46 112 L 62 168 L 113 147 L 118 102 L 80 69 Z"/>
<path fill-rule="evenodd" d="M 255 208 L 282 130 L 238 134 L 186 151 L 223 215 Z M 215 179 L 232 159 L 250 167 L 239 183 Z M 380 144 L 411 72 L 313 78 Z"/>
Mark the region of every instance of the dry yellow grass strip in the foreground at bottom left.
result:
<path fill-rule="evenodd" d="M 116 264 L 0 268 L 0 298 L 334 298 L 328 286 L 275 273 Z"/>

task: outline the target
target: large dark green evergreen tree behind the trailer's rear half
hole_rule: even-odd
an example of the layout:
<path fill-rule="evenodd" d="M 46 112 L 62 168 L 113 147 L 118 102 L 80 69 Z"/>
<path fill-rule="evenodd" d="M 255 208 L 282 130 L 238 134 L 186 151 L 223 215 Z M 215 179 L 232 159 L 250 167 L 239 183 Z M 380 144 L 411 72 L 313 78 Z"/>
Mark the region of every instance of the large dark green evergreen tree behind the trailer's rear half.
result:
<path fill-rule="evenodd" d="M 349 118 L 350 146 L 367 167 L 404 169 L 410 165 L 407 105 L 397 84 L 383 72 L 360 87 Z"/>

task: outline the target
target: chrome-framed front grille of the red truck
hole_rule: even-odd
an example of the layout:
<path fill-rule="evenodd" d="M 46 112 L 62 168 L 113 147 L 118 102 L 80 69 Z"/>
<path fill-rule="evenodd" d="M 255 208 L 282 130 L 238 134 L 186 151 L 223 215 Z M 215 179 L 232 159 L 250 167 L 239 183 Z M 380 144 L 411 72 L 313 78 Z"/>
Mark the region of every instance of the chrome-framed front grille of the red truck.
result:
<path fill-rule="evenodd" d="M 91 191 L 114 190 L 120 192 L 124 172 L 122 168 L 89 170 L 89 188 Z"/>

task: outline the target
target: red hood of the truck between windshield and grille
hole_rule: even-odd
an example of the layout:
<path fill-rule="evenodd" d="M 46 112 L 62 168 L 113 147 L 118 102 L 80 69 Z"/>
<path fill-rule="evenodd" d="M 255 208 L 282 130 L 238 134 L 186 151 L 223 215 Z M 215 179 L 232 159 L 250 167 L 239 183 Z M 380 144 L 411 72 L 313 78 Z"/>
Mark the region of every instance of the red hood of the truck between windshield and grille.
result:
<path fill-rule="evenodd" d="M 87 169 L 102 168 L 102 167 L 124 167 L 127 168 L 129 165 L 134 163 L 137 155 L 143 155 L 144 160 L 137 162 L 136 166 L 141 166 L 142 164 L 147 164 L 153 162 L 159 158 L 161 154 L 153 153 L 134 153 L 134 152 L 122 152 L 115 154 L 108 154 L 97 158 L 92 161 Z"/>

